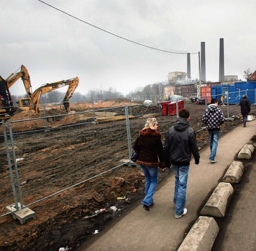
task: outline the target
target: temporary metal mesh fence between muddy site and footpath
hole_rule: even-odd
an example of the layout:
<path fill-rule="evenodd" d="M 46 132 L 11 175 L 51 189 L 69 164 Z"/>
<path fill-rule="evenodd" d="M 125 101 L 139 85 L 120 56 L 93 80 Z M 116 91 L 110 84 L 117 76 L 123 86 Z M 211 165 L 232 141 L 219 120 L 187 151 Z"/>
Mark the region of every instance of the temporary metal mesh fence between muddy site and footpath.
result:
<path fill-rule="evenodd" d="M 254 90 L 246 92 L 247 95 L 255 94 Z M 243 93 L 240 92 L 239 95 L 241 97 Z M 221 97 L 225 95 L 219 95 L 218 99 Z M 230 95 L 228 99 L 230 102 L 226 104 L 223 102 L 224 105 L 220 105 L 226 118 L 240 114 L 239 103 L 234 103 L 235 99 L 233 100 L 232 97 Z M 182 102 L 190 111 L 190 126 L 195 131 L 202 130 L 204 128 L 202 115 L 207 104 L 196 105 L 192 103 L 192 99 L 184 99 Z M 57 110 L 53 110 L 55 108 L 46 109 L 47 106 L 42 106 L 44 112 L 36 115 L 37 117 L 12 121 L 23 204 L 26 206 L 34 204 L 120 167 L 120 160 L 129 159 L 129 151 L 131 151 L 129 144 L 133 145 L 139 130 L 144 128 L 145 121 L 149 117 L 157 118 L 158 131 L 162 132 L 164 141 L 167 129 L 174 125 L 177 119 L 175 113 L 172 116 L 163 115 L 166 112 L 165 104 L 166 102 L 155 102 L 89 111 L 82 111 L 82 106 L 77 108 L 74 104 L 78 112 L 71 114 L 60 114 Z M 172 104 L 176 105 L 176 102 L 173 101 Z M 180 104 L 178 103 L 179 109 Z M 174 112 L 171 106 L 169 105 L 167 109 Z M 254 107 L 252 106 L 252 111 L 255 111 Z M 49 121 L 49 118 L 53 120 Z M 7 137 L 11 149 L 8 128 Z M 4 142 L 2 131 L 0 140 Z M 0 215 L 6 213 L 6 206 L 14 203 L 7 157 L 3 146 Z M 14 162 L 12 156 L 10 161 Z M 12 168 L 13 166 L 12 164 Z M 16 178 L 14 182 L 17 186 Z"/>

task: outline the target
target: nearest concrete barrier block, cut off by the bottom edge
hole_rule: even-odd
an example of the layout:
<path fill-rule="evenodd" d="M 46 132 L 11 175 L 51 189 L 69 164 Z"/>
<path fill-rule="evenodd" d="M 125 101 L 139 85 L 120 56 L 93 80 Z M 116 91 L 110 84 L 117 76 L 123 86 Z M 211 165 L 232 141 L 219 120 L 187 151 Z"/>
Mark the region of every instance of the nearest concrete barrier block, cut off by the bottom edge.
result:
<path fill-rule="evenodd" d="M 218 232 L 219 227 L 214 218 L 199 216 L 178 251 L 211 250 Z"/>

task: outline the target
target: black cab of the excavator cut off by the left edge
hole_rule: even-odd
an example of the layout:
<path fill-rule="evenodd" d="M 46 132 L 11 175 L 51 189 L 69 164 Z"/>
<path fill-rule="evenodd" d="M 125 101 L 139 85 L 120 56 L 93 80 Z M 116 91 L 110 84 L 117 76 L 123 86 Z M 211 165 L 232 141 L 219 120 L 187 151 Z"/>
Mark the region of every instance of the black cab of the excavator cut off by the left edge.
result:
<path fill-rule="evenodd" d="M 0 99 L 2 106 L 0 107 L 0 120 L 10 119 L 17 110 L 13 106 L 12 98 L 7 86 L 7 82 L 0 76 Z"/>

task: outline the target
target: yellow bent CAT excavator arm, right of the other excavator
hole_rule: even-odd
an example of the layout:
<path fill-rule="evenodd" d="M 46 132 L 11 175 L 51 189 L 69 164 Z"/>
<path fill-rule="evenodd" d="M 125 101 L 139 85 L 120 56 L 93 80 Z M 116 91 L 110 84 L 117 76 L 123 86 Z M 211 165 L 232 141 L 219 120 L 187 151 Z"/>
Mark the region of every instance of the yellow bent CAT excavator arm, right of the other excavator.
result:
<path fill-rule="evenodd" d="M 69 99 L 72 97 L 76 87 L 78 86 L 79 79 L 78 77 L 75 77 L 73 79 L 67 79 L 67 80 L 62 80 L 54 83 L 47 83 L 36 89 L 32 93 L 32 96 L 28 102 L 29 109 L 32 110 L 34 109 L 35 113 L 39 113 L 38 105 L 40 101 L 40 97 L 49 91 L 54 91 L 60 87 L 69 85 L 68 91 L 66 92 L 66 95 L 62 101 L 62 104 L 64 105 L 66 112 L 70 113 L 70 103 L 68 102 Z"/>

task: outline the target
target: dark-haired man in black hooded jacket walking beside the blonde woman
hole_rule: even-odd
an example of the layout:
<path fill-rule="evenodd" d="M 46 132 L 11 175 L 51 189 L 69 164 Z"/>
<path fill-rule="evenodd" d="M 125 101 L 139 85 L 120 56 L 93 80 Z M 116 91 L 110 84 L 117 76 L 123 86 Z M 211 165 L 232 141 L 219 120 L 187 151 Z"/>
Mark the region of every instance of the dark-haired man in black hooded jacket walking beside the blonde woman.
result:
<path fill-rule="evenodd" d="M 188 120 L 189 111 L 183 109 L 174 126 L 169 128 L 164 141 L 164 155 L 166 166 L 172 167 L 175 173 L 175 189 L 173 202 L 175 206 L 175 218 L 178 219 L 187 213 L 184 208 L 186 204 L 186 188 L 191 154 L 195 164 L 199 164 L 200 155 L 196 142 L 196 133 L 190 128 Z"/>

